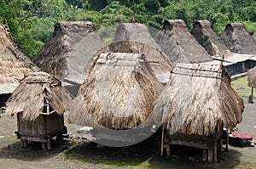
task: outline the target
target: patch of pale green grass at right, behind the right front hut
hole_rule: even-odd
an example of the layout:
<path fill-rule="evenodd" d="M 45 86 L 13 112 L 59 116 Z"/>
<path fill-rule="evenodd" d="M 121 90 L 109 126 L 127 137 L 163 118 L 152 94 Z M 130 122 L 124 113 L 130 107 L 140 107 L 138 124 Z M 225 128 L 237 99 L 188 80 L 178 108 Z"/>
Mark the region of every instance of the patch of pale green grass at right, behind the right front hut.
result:
<path fill-rule="evenodd" d="M 247 76 L 240 77 L 231 82 L 232 87 L 242 97 L 248 97 L 251 95 L 251 87 L 247 86 Z M 256 96 L 256 88 L 253 89 L 253 96 Z"/>

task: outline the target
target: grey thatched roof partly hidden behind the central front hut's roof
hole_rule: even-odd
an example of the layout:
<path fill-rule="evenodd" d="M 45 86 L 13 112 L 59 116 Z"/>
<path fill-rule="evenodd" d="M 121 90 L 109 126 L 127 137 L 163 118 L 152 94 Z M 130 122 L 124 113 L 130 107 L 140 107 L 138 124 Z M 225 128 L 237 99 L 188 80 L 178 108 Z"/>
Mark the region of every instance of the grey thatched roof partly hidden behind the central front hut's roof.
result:
<path fill-rule="evenodd" d="M 113 53 L 147 55 L 148 61 L 155 63 L 152 69 L 159 81 L 168 82 L 172 62 L 159 45 L 154 42 L 154 38 L 150 35 L 146 25 L 138 23 L 120 24 L 109 48 Z"/>

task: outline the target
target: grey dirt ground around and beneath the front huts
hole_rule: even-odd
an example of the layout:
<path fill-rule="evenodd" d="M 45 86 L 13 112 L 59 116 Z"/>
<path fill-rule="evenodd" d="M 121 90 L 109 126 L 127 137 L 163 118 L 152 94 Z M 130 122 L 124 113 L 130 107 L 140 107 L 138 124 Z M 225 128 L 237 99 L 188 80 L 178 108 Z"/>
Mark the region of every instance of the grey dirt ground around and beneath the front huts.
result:
<path fill-rule="evenodd" d="M 247 104 L 247 98 L 244 101 L 237 132 L 256 138 L 256 104 Z M 53 140 L 52 150 L 44 151 L 38 143 L 22 149 L 15 136 L 16 119 L 1 114 L 0 168 L 256 168 L 256 147 L 230 146 L 228 152 L 218 154 L 218 164 L 208 164 L 201 161 L 201 149 L 173 146 L 172 157 L 160 156 L 160 133 L 140 144 L 110 148 L 81 138 L 73 125 L 65 125 L 69 136 L 63 142 Z"/>

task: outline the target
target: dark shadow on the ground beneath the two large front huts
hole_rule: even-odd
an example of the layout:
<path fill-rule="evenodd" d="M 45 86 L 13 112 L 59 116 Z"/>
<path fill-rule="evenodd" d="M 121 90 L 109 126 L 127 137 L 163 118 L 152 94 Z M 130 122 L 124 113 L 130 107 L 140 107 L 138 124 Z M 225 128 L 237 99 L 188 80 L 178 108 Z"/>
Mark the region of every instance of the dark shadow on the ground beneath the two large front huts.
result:
<path fill-rule="evenodd" d="M 160 156 L 159 136 L 153 135 L 142 143 L 123 147 L 101 147 L 95 143 L 81 143 L 65 150 L 65 160 L 86 162 L 121 168 L 233 168 L 239 165 L 241 153 L 230 149 L 218 154 L 218 163 L 201 161 L 201 149 L 172 146 L 172 157 Z"/>

